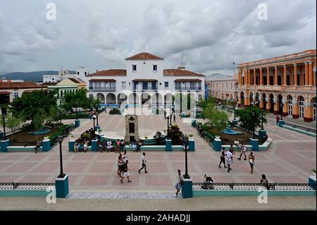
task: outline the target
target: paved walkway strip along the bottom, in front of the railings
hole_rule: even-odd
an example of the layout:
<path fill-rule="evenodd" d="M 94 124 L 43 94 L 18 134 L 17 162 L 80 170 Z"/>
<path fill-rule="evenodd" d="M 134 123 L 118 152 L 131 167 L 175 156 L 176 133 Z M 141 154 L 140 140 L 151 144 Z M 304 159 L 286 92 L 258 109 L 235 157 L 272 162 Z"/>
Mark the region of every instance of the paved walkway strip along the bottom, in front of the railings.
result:
<path fill-rule="evenodd" d="M 254 196 L 194 197 L 190 199 L 72 198 L 46 203 L 45 197 L 0 197 L 0 210 L 113 210 L 113 211 L 207 211 L 207 210 L 316 210 L 316 196 L 268 197 L 259 204 Z"/>

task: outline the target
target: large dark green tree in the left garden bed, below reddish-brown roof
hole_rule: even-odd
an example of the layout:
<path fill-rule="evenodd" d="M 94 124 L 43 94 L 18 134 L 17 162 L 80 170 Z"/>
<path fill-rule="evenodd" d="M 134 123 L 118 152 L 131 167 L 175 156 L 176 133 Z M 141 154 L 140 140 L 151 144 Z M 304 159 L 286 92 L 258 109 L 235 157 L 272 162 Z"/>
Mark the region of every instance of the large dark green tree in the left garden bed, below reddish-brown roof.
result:
<path fill-rule="evenodd" d="M 30 93 L 23 93 L 21 97 L 14 99 L 11 103 L 13 116 L 22 116 L 26 120 L 34 123 L 35 114 L 40 109 L 44 114 L 49 114 L 51 106 L 56 107 L 56 92 L 46 92 L 44 90 L 35 90 Z"/>

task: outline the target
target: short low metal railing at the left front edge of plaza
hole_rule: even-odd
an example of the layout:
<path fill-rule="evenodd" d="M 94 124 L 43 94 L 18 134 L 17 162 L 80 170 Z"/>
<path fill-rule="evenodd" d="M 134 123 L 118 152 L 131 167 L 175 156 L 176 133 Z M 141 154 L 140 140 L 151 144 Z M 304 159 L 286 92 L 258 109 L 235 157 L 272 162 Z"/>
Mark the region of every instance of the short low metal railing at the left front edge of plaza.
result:
<path fill-rule="evenodd" d="M 55 183 L 0 183 L 0 190 L 55 190 Z"/>

